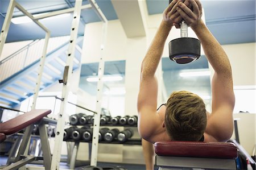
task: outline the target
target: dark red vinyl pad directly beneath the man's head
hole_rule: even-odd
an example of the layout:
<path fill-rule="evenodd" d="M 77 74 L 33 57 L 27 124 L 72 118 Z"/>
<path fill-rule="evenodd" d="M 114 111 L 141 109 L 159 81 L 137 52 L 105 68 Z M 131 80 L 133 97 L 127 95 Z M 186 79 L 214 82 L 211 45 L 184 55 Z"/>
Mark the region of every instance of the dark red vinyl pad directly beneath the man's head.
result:
<path fill-rule="evenodd" d="M 228 142 L 155 142 L 155 153 L 159 156 L 209 157 L 234 159 L 237 147 Z"/>

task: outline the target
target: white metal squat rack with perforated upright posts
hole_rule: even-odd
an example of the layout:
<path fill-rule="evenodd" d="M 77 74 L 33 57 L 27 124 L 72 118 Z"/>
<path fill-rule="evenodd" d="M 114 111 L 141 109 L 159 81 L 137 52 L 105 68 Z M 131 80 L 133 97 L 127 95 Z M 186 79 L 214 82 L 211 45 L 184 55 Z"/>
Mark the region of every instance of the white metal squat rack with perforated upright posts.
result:
<path fill-rule="evenodd" d="M 38 78 L 36 80 L 36 87 L 34 90 L 34 97 L 33 97 L 33 103 L 31 106 L 31 109 L 35 109 L 36 106 L 36 99 L 38 98 L 38 93 L 40 90 L 40 82 L 42 80 L 42 73 L 44 68 L 44 63 L 46 60 L 46 52 L 47 52 L 47 46 L 48 46 L 48 40 L 50 38 L 50 31 L 43 26 L 42 23 L 40 23 L 38 20 L 47 18 L 49 16 L 55 16 L 59 14 L 64 13 L 71 13 L 73 12 L 73 21 L 72 21 L 72 27 L 71 27 L 71 36 L 69 41 L 69 48 L 68 48 L 68 59 L 66 62 L 66 66 L 64 69 L 64 75 L 63 80 L 60 80 L 61 83 L 63 83 L 63 89 L 62 89 L 62 96 L 61 96 L 61 106 L 60 106 L 60 113 L 58 114 L 59 119 L 57 121 L 57 127 L 56 127 L 56 136 L 55 136 L 55 145 L 53 149 L 53 155 L 52 157 L 47 154 L 48 159 L 44 160 L 46 163 L 44 163 L 46 169 L 59 169 L 59 163 L 60 163 L 60 155 L 61 155 L 61 146 L 63 143 L 63 135 L 64 135 L 64 123 L 65 123 L 65 114 L 66 113 L 66 106 L 67 106 L 67 98 L 69 93 L 69 82 L 68 79 L 71 77 L 72 74 L 72 67 L 73 67 L 73 59 L 75 57 L 75 45 L 76 45 L 76 39 L 77 39 L 77 31 L 79 28 L 79 22 L 80 22 L 80 15 L 82 9 L 88 9 L 92 8 L 96 11 L 96 14 L 99 16 L 99 18 L 104 22 L 104 26 L 102 27 L 102 45 L 101 45 L 101 56 L 100 56 L 100 63 L 98 68 L 98 84 L 97 84 L 97 104 L 96 104 L 96 113 L 95 119 L 94 119 L 94 125 L 93 125 L 93 141 L 92 141 L 92 155 L 91 155 L 91 165 L 97 165 L 97 152 L 98 152 L 98 132 L 100 130 L 100 113 L 101 113 L 101 98 L 102 98 L 102 76 L 104 73 L 104 58 L 103 58 L 103 49 L 104 44 L 106 41 L 106 28 L 108 25 L 108 20 L 106 19 L 105 15 L 102 13 L 100 7 L 98 7 L 95 0 L 89 0 L 90 5 L 84 5 L 82 6 L 82 0 L 76 0 L 75 7 L 66 9 L 66 10 L 59 10 L 54 11 L 52 13 L 48 13 L 45 15 L 40 15 L 37 17 L 32 16 L 30 13 L 28 13 L 25 9 L 23 9 L 22 6 L 20 6 L 18 3 L 15 2 L 15 0 L 10 0 L 9 8 L 7 10 L 6 18 L 3 23 L 3 27 L 0 34 L 0 56 L 2 53 L 3 45 L 6 42 L 7 34 L 10 27 L 11 18 L 13 17 L 13 11 L 14 7 L 17 7 L 24 15 L 27 15 L 30 19 L 32 19 L 36 24 L 38 24 L 39 27 L 41 27 L 45 32 L 45 42 L 44 42 L 44 48 L 42 57 L 40 59 L 40 65 L 38 69 Z M 70 69 L 69 69 L 70 68 Z M 25 131 L 25 134 L 31 134 L 32 126 L 28 127 Z M 25 136 L 25 135 L 24 135 Z M 22 144 L 26 145 L 30 138 L 23 140 Z M 28 148 L 28 147 L 27 147 Z M 49 146 L 47 146 L 49 148 Z M 22 155 L 24 154 L 21 153 Z M 49 166 L 51 165 L 51 166 Z"/>

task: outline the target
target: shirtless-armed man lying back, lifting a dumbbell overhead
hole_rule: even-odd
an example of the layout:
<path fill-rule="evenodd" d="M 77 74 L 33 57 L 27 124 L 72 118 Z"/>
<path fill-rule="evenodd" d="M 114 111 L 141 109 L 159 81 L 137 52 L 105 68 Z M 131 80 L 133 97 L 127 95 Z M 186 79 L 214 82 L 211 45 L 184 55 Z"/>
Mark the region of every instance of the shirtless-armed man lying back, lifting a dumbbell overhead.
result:
<path fill-rule="evenodd" d="M 232 70 L 228 56 L 201 20 L 201 15 L 202 7 L 198 0 L 172 1 L 164 10 L 162 22 L 142 61 L 137 103 L 138 130 L 143 138 L 142 146 L 147 169 L 154 167 L 154 142 L 224 142 L 232 136 L 235 103 Z M 211 114 L 205 110 L 203 99 L 186 91 L 172 93 L 167 103 L 157 110 L 156 68 L 171 28 L 179 28 L 182 19 L 199 38 L 205 56 L 214 69 Z"/>

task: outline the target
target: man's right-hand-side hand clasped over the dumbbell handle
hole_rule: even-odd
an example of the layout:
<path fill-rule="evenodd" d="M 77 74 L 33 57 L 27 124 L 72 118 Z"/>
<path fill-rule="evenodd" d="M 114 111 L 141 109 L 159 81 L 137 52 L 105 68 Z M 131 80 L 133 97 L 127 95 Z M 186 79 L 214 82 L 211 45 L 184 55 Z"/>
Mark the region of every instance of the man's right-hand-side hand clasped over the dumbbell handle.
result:
<path fill-rule="evenodd" d="M 199 0 L 189 0 L 189 2 L 192 5 L 191 10 L 185 3 L 179 2 L 177 3 L 177 13 L 180 14 L 180 16 L 185 20 L 185 22 L 188 24 L 188 26 L 191 26 L 193 28 L 194 26 L 197 26 L 197 24 L 200 22 L 202 17 L 202 5 L 199 2 Z M 178 26 L 177 23 L 174 24 L 175 27 Z"/>

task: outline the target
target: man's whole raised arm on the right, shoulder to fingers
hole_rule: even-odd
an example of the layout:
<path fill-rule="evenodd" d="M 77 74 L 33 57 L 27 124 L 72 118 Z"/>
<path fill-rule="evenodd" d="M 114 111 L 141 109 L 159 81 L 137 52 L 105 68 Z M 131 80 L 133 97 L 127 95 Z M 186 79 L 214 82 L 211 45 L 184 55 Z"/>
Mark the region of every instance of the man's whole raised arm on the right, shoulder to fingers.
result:
<path fill-rule="evenodd" d="M 232 70 L 224 49 L 201 20 L 201 3 L 191 1 L 193 12 L 183 3 L 177 11 L 191 26 L 203 46 L 205 56 L 214 69 L 212 80 L 212 114 L 205 132 L 218 141 L 228 140 L 233 133 L 234 92 Z"/>

